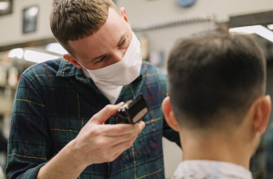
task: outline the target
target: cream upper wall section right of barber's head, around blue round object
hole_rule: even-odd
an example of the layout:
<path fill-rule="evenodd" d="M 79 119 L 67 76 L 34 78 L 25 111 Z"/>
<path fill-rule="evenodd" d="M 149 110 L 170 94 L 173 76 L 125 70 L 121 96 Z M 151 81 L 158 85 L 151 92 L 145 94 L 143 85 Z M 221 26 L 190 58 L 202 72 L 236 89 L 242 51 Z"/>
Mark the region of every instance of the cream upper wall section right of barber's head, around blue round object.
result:
<path fill-rule="evenodd" d="M 179 7 L 176 0 L 116 0 L 118 7 L 125 7 L 132 26 L 142 23 L 189 19 L 200 14 L 213 13 L 218 22 L 229 16 L 273 10 L 272 0 L 197 0 L 190 8 Z"/>

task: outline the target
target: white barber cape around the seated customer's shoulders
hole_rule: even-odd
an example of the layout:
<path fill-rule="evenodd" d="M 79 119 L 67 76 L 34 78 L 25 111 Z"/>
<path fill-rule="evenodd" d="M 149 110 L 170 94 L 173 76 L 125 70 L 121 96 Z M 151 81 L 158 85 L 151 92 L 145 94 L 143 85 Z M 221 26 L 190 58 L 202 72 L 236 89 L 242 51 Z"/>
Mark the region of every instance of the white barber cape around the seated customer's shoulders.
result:
<path fill-rule="evenodd" d="M 185 160 L 180 162 L 172 179 L 252 179 L 243 166 L 212 160 Z"/>

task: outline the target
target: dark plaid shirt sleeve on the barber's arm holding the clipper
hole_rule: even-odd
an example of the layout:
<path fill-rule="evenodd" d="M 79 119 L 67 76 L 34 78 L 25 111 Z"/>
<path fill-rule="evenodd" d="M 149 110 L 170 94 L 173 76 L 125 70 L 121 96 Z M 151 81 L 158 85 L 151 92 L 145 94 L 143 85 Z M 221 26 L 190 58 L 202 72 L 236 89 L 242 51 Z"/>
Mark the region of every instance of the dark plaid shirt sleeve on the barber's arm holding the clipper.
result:
<path fill-rule="evenodd" d="M 40 168 L 53 156 L 50 153 L 52 142 L 46 108 L 39 88 L 42 88 L 42 85 L 35 86 L 31 79 L 22 75 L 13 104 L 8 140 L 7 179 L 37 178 Z"/>

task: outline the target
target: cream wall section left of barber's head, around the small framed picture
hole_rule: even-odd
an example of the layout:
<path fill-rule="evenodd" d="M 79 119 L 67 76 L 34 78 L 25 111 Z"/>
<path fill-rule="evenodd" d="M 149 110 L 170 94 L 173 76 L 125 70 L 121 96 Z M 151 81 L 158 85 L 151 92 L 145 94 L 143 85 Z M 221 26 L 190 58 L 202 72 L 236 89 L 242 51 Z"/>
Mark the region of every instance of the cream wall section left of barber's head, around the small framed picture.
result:
<path fill-rule="evenodd" d="M 52 38 L 49 14 L 52 0 L 13 0 L 12 14 L 0 16 L 0 46 Z M 38 5 L 37 28 L 34 33 L 23 34 L 23 9 Z"/>

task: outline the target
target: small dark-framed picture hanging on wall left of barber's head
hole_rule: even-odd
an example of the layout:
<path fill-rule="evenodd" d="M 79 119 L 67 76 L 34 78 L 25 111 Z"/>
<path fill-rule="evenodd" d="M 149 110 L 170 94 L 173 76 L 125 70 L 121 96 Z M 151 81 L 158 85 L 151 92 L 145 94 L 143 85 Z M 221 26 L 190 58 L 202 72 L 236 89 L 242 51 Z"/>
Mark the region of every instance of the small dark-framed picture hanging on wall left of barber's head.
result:
<path fill-rule="evenodd" d="M 35 32 L 37 24 L 38 6 L 31 6 L 23 10 L 23 33 Z"/>

